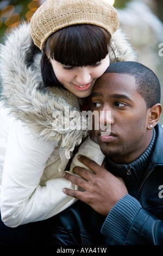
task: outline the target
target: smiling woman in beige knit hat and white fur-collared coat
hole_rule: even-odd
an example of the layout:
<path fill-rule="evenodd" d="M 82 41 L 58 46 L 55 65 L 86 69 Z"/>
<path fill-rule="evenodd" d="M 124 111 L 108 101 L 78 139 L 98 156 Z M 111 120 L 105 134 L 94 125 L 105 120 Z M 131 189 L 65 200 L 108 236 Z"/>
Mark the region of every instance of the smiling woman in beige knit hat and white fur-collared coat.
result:
<path fill-rule="evenodd" d="M 70 113 L 89 108 L 110 62 L 135 60 L 118 25 L 105 0 L 47 0 L 2 45 L 0 242 L 21 237 L 22 244 L 22 230 L 33 232 L 27 223 L 39 225 L 74 203 L 62 188 L 75 187 L 61 173 L 87 130 Z"/>

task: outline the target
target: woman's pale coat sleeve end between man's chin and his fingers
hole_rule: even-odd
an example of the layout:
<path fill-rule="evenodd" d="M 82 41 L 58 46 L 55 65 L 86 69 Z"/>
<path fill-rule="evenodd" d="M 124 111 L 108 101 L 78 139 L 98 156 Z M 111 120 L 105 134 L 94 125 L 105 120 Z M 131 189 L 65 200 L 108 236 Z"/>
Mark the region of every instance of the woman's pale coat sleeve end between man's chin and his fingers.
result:
<path fill-rule="evenodd" d="M 87 166 L 85 166 L 83 163 L 81 163 L 77 156 L 79 154 L 83 154 L 83 156 L 86 156 L 92 160 L 94 160 L 97 164 L 102 165 L 103 160 L 105 158 L 104 154 L 102 153 L 100 147 L 98 144 L 96 144 L 94 141 L 88 137 L 83 144 L 79 147 L 78 152 L 75 154 L 75 156 L 72 159 L 72 163 L 70 165 L 70 171 L 72 172 L 72 169 L 74 166 L 81 166 L 89 171 L 91 171 Z"/>

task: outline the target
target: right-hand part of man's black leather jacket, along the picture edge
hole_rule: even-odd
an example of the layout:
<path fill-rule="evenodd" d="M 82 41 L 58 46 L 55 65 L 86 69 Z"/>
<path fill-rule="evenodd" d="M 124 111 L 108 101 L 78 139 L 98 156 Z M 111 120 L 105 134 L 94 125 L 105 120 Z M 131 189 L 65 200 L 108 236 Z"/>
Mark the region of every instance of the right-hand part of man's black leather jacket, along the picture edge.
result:
<path fill-rule="evenodd" d="M 126 245 L 163 245 L 163 128 L 156 140 L 138 200 L 142 209 L 129 231 Z"/>

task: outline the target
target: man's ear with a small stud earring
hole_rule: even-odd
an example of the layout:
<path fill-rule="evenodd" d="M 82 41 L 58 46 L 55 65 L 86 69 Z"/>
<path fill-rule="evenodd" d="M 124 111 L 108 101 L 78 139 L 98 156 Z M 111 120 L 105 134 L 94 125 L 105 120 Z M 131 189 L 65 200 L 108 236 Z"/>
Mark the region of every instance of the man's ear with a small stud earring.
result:
<path fill-rule="evenodd" d="M 148 127 L 147 127 L 148 130 L 153 129 L 153 127 L 155 127 L 156 124 L 158 124 L 160 120 L 161 112 L 162 112 L 162 106 L 159 103 L 153 105 L 150 109 L 148 109 L 148 114 L 149 114 Z"/>

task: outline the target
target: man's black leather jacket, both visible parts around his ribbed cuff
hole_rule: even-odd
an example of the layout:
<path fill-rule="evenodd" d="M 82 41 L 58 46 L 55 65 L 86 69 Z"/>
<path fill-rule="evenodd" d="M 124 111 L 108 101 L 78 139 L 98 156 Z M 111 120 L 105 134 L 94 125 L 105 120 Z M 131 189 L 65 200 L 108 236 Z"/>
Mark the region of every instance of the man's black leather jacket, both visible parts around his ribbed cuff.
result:
<path fill-rule="evenodd" d="M 163 128 L 156 139 L 138 200 L 142 209 L 134 219 L 125 245 L 163 245 Z M 53 217 L 53 245 L 117 245 L 101 234 L 105 217 L 77 201 Z"/>

